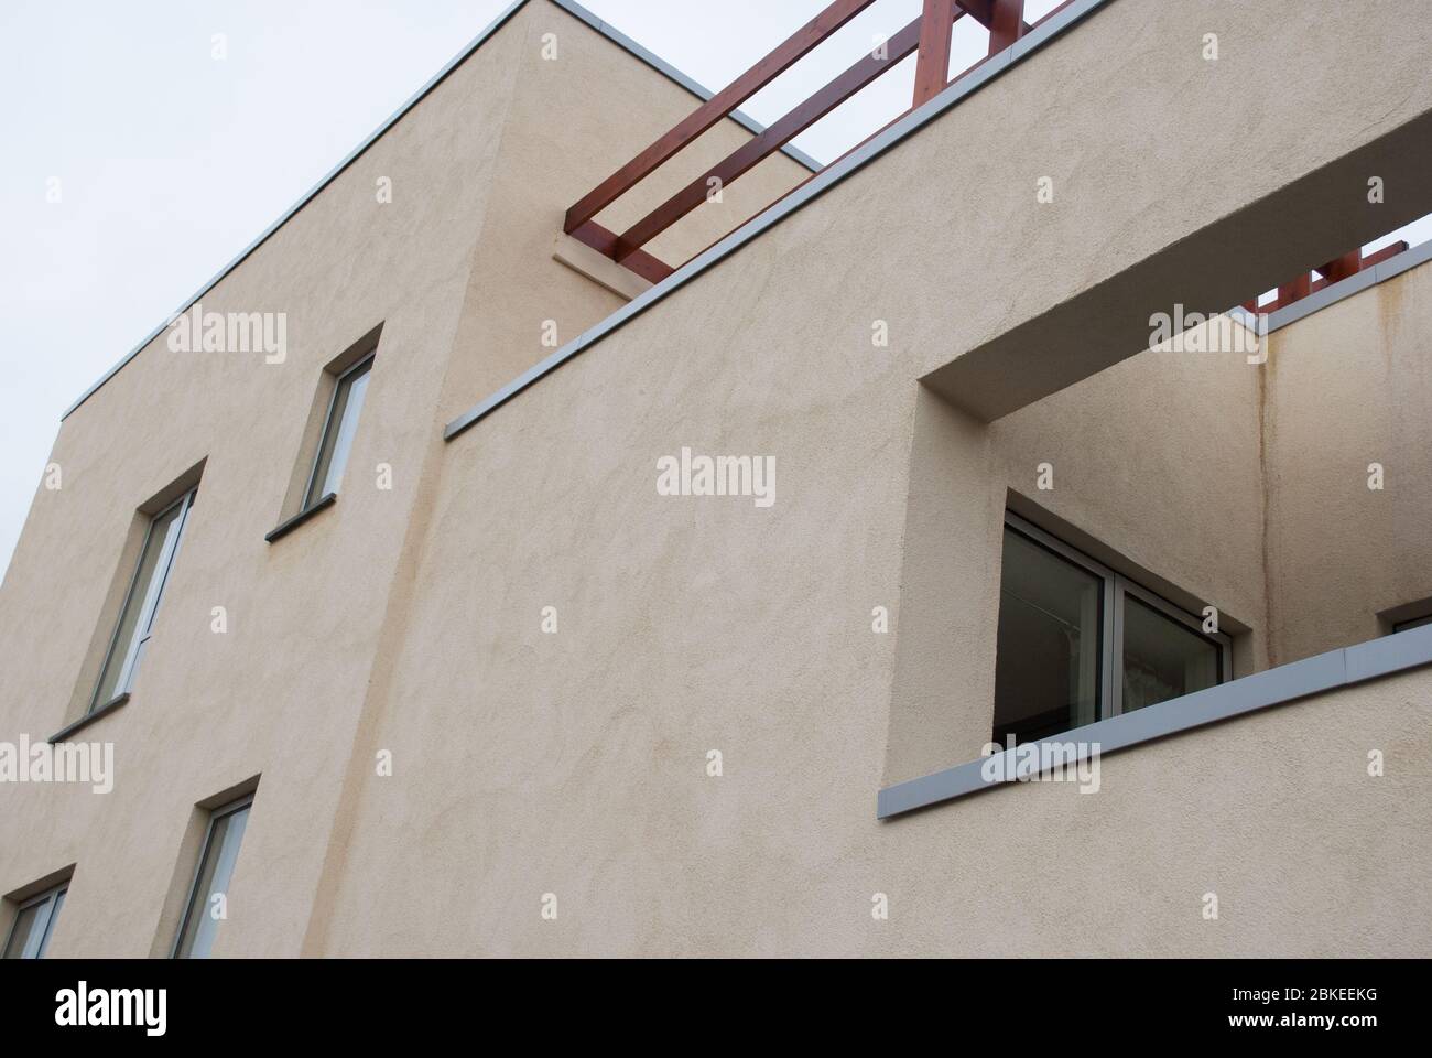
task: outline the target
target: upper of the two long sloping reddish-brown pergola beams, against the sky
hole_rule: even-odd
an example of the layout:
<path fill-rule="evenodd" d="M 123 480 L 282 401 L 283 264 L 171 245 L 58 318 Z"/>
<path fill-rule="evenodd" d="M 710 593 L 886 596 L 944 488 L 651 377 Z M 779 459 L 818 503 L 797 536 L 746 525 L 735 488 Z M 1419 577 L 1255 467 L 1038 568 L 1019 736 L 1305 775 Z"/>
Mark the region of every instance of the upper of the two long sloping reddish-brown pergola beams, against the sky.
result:
<path fill-rule="evenodd" d="M 730 85 L 702 103 L 676 128 L 623 165 L 567 211 L 563 229 L 576 235 L 577 229 L 600 214 L 621 195 L 636 186 L 662 162 L 710 129 L 740 103 L 775 80 L 835 30 L 869 7 L 875 0 L 833 0 L 823 11 L 792 33 L 770 54 L 758 62 Z"/>

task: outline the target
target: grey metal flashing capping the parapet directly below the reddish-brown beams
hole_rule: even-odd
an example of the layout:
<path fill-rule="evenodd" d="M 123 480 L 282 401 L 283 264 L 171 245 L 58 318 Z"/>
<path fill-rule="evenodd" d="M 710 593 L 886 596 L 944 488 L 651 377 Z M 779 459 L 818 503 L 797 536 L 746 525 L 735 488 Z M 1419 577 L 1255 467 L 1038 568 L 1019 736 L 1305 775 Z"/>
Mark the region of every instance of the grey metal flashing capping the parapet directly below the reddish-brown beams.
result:
<path fill-rule="evenodd" d="M 1041 23 L 1040 26 L 1035 26 L 1031 33 L 1015 42 L 1012 47 L 992 56 L 977 69 L 952 82 L 944 92 L 927 102 L 924 106 L 909 112 L 888 126 L 884 132 L 879 132 L 868 139 L 851 153 L 823 168 L 819 173 L 802 184 L 793 192 L 782 198 L 779 202 L 775 202 L 769 209 L 746 221 L 746 224 L 723 238 L 720 242 L 687 261 L 669 277 L 652 287 L 652 290 L 646 291 L 646 294 L 642 294 L 639 298 L 627 302 L 596 327 L 579 334 L 541 363 L 523 371 L 523 374 L 507 383 L 497 393 L 474 404 L 471 409 L 447 424 L 442 432 L 442 439 L 453 440 L 464 430 L 477 424 L 487 414 L 505 404 L 538 378 L 551 374 L 579 353 L 583 353 L 590 345 L 617 331 L 627 321 L 640 315 L 652 305 L 664 300 L 670 294 L 674 294 L 707 268 L 736 252 L 765 231 L 773 228 L 790 214 L 809 205 L 821 195 L 831 191 L 831 188 L 841 184 L 841 181 L 846 176 L 863 169 L 902 139 L 929 125 L 932 120 L 945 113 L 945 110 L 951 109 L 974 92 L 978 92 L 1007 69 L 1018 62 L 1022 62 L 1030 54 L 1034 54 L 1055 37 L 1074 27 L 1078 22 L 1113 1 L 1114 0 L 1074 0 L 1074 3 L 1057 16 Z"/>

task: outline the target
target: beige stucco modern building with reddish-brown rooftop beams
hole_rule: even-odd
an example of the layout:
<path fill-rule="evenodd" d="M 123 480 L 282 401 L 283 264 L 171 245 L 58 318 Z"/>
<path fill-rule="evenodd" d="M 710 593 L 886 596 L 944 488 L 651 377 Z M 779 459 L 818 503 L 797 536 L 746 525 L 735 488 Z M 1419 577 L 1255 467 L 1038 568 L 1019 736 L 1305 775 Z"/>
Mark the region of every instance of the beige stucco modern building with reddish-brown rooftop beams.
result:
<path fill-rule="evenodd" d="M 735 109 L 865 7 L 707 96 L 516 3 L 79 400 L 7 955 L 1432 955 L 1426 4 Z"/>

